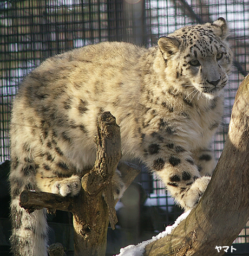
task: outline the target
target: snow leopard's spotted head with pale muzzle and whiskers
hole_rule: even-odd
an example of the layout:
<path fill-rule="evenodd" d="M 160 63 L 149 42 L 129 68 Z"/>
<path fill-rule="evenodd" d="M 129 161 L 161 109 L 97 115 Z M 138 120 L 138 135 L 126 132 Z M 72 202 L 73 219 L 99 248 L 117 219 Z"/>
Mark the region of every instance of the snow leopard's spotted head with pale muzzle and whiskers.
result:
<path fill-rule="evenodd" d="M 158 41 L 165 62 L 165 79 L 185 95 L 217 97 L 227 84 L 232 52 L 224 18 L 187 26 Z M 167 82 L 167 84 L 168 84 Z"/>

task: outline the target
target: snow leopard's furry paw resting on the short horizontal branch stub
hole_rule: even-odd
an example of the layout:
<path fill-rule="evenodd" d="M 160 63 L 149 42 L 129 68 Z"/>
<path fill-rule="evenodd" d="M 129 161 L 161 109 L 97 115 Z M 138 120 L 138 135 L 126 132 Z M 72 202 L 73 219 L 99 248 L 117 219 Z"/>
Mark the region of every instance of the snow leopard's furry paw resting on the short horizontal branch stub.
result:
<path fill-rule="evenodd" d="M 73 175 L 70 178 L 56 181 L 52 186 L 51 192 L 62 196 L 76 196 L 80 189 L 81 179 L 77 175 Z"/>

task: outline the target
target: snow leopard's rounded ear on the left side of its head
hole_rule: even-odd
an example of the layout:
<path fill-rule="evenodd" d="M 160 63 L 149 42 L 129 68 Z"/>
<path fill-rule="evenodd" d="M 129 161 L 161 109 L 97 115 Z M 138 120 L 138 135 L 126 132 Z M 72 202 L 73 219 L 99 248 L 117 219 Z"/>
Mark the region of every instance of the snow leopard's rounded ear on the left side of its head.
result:
<path fill-rule="evenodd" d="M 174 55 L 179 50 L 180 42 L 175 37 L 160 37 L 158 40 L 159 48 L 165 59 Z"/>

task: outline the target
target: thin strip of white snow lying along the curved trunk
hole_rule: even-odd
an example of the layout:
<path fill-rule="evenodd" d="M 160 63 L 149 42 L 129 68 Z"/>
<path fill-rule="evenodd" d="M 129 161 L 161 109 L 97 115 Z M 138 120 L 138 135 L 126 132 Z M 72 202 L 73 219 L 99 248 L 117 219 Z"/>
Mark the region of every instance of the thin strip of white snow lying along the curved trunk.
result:
<path fill-rule="evenodd" d="M 145 251 L 145 247 L 150 244 L 151 242 L 158 240 L 160 238 L 163 238 L 164 236 L 171 234 L 173 229 L 179 225 L 179 223 L 186 219 L 188 214 L 191 212 L 191 210 L 188 210 L 186 213 L 183 213 L 181 216 L 179 216 L 175 223 L 172 226 L 166 227 L 165 231 L 159 233 L 156 236 L 153 236 L 152 239 L 143 241 L 138 245 L 128 245 L 125 248 L 120 249 L 120 254 L 117 254 L 116 256 L 142 256 L 143 252 Z"/>

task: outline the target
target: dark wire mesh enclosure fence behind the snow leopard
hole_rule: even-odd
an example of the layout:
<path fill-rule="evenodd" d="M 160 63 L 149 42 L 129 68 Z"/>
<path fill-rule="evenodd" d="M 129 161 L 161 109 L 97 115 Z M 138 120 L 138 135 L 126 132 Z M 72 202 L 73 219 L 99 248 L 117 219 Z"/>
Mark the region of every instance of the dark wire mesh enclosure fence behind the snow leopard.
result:
<path fill-rule="evenodd" d="M 229 42 L 235 60 L 230 84 L 225 91 L 223 125 L 214 136 L 216 159 L 224 147 L 235 93 L 249 69 L 248 1 L 1 1 L 0 162 L 9 159 L 8 125 L 11 101 L 15 97 L 18 84 L 23 76 L 45 58 L 71 48 L 102 41 L 127 41 L 146 47 L 154 46 L 160 36 L 175 29 L 214 21 L 219 17 L 224 17 L 230 25 Z M 139 183 L 133 184 L 127 191 L 127 197 L 137 195 L 136 207 L 130 206 L 129 200 L 124 197 L 122 207 L 117 210 L 120 229 L 117 228 L 115 234 L 108 233 L 110 254 L 117 253 L 115 248 L 149 239 L 151 234 L 162 231 L 165 226 L 173 223 L 182 212 L 171 197 L 167 196 L 163 184 L 155 176 L 148 174 L 144 167 L 137 181 Z M 137 218 L 134 218 L 136 215 Z M 243 229 L 235 242 L 249 242 L 248 228 L 246 226 Z M 115 241 L 116 234 L 122 237 L 122 241 Z"/>

